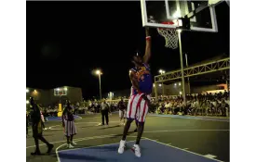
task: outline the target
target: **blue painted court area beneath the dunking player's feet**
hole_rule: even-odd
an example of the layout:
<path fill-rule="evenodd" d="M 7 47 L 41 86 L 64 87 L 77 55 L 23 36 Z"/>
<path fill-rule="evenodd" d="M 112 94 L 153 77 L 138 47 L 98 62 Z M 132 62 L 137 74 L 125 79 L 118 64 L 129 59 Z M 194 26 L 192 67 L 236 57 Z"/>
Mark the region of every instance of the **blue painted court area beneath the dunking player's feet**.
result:
<path fill-rule="evenodd" d="M 141 140 L 141 157 L 136 157 L 130 150 L 134 142 L 127 143 L 127 150 L 119 155 L 119 143 L 65 150 L 59 152 L 61 162 L 213 162 L 215 160 L 204 156 L 197 156 L 168 145 Z"/>

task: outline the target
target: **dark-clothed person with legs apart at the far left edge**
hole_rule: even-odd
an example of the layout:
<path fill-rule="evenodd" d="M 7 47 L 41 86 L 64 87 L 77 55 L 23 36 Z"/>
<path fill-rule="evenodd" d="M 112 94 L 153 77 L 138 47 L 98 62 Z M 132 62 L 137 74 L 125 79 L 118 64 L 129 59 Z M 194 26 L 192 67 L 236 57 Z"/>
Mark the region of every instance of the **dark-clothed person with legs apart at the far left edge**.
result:
<path fill-rule="evenodd" d="M 31 104 L 31 120 L 32 120 L 32 131 L 34 137 L 34 144 L 35 144 L 35 151 L 31 153 L 32 156 L 40 155 L 39 149 L 39 141 L 41 140 L 43 143 L 47 144 L 48 150 L 47 153 L 49 154 L 53 148 L 53 144 L 48 143 L 47 140 L 43 137 L 43 121 L 41 118 L 41 113 L 39 107 L 34 103 L 34 98 L 30 98 Z"/>

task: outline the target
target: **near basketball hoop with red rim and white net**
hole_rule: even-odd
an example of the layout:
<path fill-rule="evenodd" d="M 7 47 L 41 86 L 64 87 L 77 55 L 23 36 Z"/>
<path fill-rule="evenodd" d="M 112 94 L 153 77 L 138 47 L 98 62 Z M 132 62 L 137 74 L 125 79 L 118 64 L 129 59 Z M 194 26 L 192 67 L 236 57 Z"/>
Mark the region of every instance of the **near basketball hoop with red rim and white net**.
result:
<path fill-rule="evenodd" d="M 174 22 L 173 21 L 168 21 L 168 22 L 163 22 L 163 24 L 169 24 L 169 25 L 173 25 Z M 176 32 L 176 29 L 171 29 L 171 28 L 157 28 L 157 31 L 160 35 L 162 35 L 163 37 L 165 37 L 166 40 L 166 47 L 167 48 L 172 48 L 172 49 L 176 49 L 178 48 L 178 34 Z"/>

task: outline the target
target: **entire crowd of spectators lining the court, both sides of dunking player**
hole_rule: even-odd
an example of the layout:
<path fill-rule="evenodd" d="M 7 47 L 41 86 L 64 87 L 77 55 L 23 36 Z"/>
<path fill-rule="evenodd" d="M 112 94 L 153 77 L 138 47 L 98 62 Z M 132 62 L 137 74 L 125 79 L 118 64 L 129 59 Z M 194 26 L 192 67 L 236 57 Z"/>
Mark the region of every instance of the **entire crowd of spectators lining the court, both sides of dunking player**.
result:
<path fill-rule="evenodd" d="M 230 96 L 228 92 L 187 94 L 185 104 L 182 96 L 164 96 L 158 97 L 157 99 L 153 97 L 149 106 L 149 113 L 229 117 L 229 98 Z M 107 102 L 111 112 L 118 110 L 118 101 L 119 100 Z M 124 101 L 126 105 L 128 105 L 128 99 L 125 99 Z M 74 107 L 74 114 L 76 115 L 101 112 L 101 101 L 97 100 L 73 103 L 71 106 Z M 47 107 L 40 106 L 40 108 L 45 117 L 58 116 L 58 104 Z"/>

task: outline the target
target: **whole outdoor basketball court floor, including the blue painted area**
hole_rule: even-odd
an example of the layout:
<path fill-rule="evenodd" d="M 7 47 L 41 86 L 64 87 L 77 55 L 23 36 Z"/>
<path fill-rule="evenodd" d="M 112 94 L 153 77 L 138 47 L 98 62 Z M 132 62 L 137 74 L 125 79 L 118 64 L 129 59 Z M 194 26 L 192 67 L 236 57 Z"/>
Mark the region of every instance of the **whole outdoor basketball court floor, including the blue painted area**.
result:
<path fill-rule="evenodd" d="M 54 144 L 50 155 L 31 156 L 34 152 L 32 131 L 26 141 L 26 160 L 39 162 L 95 162 L 95 161 L 147 161 L 147 162 L 213 162 L 230 161 L 230 131 L 227 118 L 182 116 L 153 116 L 146 118 L 141 140 L 141 157 L 130 150 L 136 139 L 132 123 L 123 155 L 117 153 L 124 126 L 119 126 L 117 114 L 110 116 L 109 126 L 97 126 L 100 115 L 80 116 L 76 119 L 77 135 L 74 149 L 66 148 L 60 120 L 48 121 L 44 131 L 46 139 Z M 47 146 L 40 143 L 41 153 Z"/>

